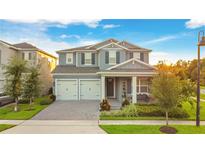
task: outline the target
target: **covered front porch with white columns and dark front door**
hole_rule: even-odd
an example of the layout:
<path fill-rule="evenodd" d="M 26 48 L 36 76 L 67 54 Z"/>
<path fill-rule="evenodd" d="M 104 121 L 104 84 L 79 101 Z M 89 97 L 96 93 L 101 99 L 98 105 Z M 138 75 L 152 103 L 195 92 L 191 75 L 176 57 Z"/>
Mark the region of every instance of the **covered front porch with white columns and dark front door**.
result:
<path fill-rule="evenodd" d="M 108 99 L 112 106 L 121 105 L 124 98 L 132 103 L 146 101 L 144 95 L 149 96 L 150 76 L 102 76 L 102 98 Z"/>

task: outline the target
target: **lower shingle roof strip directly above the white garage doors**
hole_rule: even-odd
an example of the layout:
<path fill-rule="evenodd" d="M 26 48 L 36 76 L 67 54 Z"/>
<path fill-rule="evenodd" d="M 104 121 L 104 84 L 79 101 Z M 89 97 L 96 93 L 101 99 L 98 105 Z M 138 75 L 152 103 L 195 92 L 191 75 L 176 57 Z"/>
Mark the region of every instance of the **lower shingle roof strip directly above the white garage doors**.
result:
<path fill-rule="evenodd" d="M 76 67 L 58 65 L 52 73 L 96 73 L 99 72 L 99 67 Z"/>

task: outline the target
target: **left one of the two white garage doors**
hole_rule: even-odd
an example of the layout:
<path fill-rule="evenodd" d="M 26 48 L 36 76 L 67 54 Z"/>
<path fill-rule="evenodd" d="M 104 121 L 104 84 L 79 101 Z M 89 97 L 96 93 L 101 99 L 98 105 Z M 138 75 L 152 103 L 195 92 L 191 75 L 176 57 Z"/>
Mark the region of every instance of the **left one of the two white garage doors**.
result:
<path fill-rule="evenodd" d="M 77 80 L 57 80 L 57 100 L 78 100 Z"/>

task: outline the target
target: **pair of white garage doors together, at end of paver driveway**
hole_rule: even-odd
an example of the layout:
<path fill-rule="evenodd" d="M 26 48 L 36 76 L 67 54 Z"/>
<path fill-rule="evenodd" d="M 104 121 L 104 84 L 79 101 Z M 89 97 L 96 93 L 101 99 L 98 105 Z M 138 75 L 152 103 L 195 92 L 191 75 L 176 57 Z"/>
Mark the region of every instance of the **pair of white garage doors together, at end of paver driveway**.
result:
<path fill-rule="evenodd" d="M 57 79 L 57 100 L 100 100 L 100 79 Z"/>

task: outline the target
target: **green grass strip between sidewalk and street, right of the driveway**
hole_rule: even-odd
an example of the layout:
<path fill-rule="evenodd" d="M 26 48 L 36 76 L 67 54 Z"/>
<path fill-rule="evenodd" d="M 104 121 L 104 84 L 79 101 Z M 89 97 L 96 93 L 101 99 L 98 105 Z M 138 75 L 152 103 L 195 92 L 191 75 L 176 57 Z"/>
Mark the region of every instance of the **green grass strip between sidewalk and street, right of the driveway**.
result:
<path fill-rule="evenodd" d="M 160 125 L 100 125 L 108 134 L 162 134 Z M 173 125 L 177 134 L 205 134 L 205 126 Z"/>

